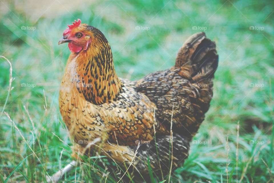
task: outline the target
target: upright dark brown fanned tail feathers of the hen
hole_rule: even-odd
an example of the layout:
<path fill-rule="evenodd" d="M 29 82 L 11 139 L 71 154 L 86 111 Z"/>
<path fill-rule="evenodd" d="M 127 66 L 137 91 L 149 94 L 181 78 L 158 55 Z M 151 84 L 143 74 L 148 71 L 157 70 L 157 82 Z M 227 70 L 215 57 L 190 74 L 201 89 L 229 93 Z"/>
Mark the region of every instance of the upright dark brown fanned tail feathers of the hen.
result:
<path fill-rule="evenodd" d="M 216 45 L 206 38 L 205 32 L 193 34 L 180 48 L 175 67 L 180 75 L 193 82 L 214 78 L 218 66 Z"/>

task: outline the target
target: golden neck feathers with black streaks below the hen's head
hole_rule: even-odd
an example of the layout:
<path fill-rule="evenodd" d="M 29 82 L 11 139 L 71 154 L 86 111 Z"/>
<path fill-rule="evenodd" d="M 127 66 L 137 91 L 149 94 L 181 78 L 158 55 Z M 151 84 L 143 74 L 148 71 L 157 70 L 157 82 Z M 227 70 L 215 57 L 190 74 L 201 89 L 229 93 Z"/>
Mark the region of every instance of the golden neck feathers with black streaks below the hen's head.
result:
<path fill-rule="evenodd" d="M 114 70 L 110 45 L 104 39 L 100 44 L 91 43 L 76 58 L 76 88 L 87 101 L 96 105 L 116 100 L 123 86 Z"/>

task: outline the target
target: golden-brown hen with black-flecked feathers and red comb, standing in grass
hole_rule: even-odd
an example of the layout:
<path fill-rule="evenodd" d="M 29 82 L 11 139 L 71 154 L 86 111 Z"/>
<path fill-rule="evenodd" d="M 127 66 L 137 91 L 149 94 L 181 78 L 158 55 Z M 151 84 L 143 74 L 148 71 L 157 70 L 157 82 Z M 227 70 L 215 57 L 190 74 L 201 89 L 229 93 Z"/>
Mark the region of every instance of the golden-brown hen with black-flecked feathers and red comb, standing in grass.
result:
<path fill-rule="evenodd" d="M 143 176 L 147 157 L 156 175 L 168 174 L 171 138 L 172 168 L 187 158 L 189 142 L 209 109 L 218 65 L 215 43 L 204 32 L 186 40 L 175 66 L 137 81 L 117 76 L 110 45 L 99 29 L 78 19 L 58 44 L 65 42 L 71 54 L 59 107 L 77 148 L 84 151 L 89 145 L 89 151 L 103 152 L 118 164 L 134 159 L 130 171 Z"/>

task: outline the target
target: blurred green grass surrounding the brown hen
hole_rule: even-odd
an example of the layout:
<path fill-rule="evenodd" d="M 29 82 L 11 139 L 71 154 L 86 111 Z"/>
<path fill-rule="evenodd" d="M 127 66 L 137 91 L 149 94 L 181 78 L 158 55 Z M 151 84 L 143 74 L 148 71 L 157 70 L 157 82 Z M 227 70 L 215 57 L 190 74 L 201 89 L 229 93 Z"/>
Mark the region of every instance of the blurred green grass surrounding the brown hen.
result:
<path fill-rule="evenodd" d="M 227 182 L 228 134 L 231 182 L 239 182 L 241 175 L 242 182 L 271 182 L 267 168 L 274 175 L 274 3 L 271 0 L 35 3 L 0 1 L 0 55 L 12 62 L 15 78 L 4 111 L 31 147 L 3 113 L 0 182 L 9 173 L 13 174 L 8 182 L 45 181 L 46 172 L 52 175 L 59 170 L 63 148 L 61 167 L 72 160 L 69 147 L 72 142 L 58 104 L 59 85 L 70 51 L 66 45 L 57 43 L 66 25 L 77 18 L 105 34 L 118 76 L 131 80 L 173 66 L 184 40 L 198 32 L 193 26 L 206 27 L 206 35 L 216 42 L 219 54 L 213 99 L 191 142 L 189 158 L 171 176 L 171 181 Z M 35 30 L 21 30 L 21 26 Z M 149 30 L 136 30 L 136 26 Z M 250 30 L 250 26 L 264 29 Z M 0 61 L 2 111 L 8 93 L 9 64 L 3 58 Z M 21 87 L 23 83 L 35 86 Z M 252 87 L 253 84 L 256 86 Z M 31 155 L 31 149 L 41 162 Z M 89 163 L 70 172 L 65 180 L 120 179 L 111 168 L 105 168 L 115 167 L 106 158 L 89 158 L 86 162 Z"/>

